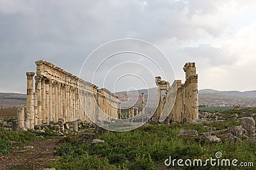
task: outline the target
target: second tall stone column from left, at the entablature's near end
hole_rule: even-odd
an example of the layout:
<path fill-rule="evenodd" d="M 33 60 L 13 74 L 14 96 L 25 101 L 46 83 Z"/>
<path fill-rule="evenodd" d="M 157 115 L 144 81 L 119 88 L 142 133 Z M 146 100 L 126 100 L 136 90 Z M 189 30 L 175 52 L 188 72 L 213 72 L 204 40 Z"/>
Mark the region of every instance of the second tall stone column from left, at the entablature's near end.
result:
<path fill-rule="evenodd" d="M 38 124 L 42 124 L 42 93 L 41 93 L 41 75 L 36 75 L 36 97 L 37 97 L 37 107 L 38 107 Z"/>

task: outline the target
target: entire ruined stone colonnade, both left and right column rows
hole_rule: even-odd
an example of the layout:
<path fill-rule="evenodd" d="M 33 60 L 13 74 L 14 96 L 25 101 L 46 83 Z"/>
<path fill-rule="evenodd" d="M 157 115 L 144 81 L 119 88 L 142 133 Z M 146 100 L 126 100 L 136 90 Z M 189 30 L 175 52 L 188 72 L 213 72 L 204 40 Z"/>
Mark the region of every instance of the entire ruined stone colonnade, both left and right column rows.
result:
<path fill-rule="evenodd" d="M 120 102 L 115 94 L 106 88 L 99 89 L 72 73 L 45 60 L 36 61 L 36 73 L 27 72 L 27 104 L 18 109 L 18 129 L 33 129 L 36 125 L 80 120 L 83 122 L 108 121 L 133 118 L 141 114 L 145 117 L 145 97 L 141 93 L 141 108 L 129 108 L 129 114 L 121 114 Z M 157 118 L 166 114 L 165 122 L 186 123 L 198 119 L 198 75 L 195 63 L 184 66 L 186 81 L 168 81 L 156 77 L 159 87 Z M 35 81 L 34 81 L 35 79 Z M 34 91 L 35 88 L 35 91 Z M 175 89 L 175 90 L 173 90 Z M 162 91 L 166 95 L 162 98 Z M 173 104 L 173 105 L 172 105 Z M 172 107 L 173 106 L 173 107 Z M 172 108 L 172 109 L 170 109 Z M 104 112 L 105 114 L 101 114 Z M 146 119 L 141 116 L 139 121 Z M 136 123 L 131 120 L 129 123 Z M 15 124 L 15 123 L 13 123 Z M 73 123 L 76 125 L 76 123 Z M 103 126 L 103 125 L 102 125 Z M 77 126 L 75 126 L 76 129 Z"/>

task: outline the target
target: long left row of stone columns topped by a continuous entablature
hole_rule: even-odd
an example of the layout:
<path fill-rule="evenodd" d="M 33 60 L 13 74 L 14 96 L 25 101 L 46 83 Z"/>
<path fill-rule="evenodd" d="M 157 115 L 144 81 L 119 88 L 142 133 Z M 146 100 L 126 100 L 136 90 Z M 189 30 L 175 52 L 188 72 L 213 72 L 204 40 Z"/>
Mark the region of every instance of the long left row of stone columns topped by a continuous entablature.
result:
<path fill-rule="evenodd" d="M 24 109 L 18 111 L 19 128 L 33 129 L 35 125 L 57 122 L 59 118 L 65 122 L 95 122 L 98 109 L 96 100 L 108 116 L 118 118 L 118 99 L 108 89 L 98 89 L 94 84 L 47 61 L 35 63 L 36 73 L 26 73 L 26 112 Z"/>

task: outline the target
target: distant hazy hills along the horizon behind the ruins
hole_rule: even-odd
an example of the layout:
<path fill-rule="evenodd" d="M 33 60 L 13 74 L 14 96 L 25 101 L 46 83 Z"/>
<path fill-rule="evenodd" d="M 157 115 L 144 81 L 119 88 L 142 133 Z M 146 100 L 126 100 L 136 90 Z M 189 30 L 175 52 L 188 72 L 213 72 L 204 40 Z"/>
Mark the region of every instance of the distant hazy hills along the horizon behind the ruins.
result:
<path fill-rule="evenodd" d="M 150 94 L 150 100 L 156 100 L 158 98 L 158 89 L 139 89 L 138 91 L 129 91 L 131 102 L 137 100 L 137 104 L 141 104 L 141 93 L 145 94 L 145 102 L 147 102 L 148 94 Z M 128 100 L 127 91 L 116 92 L 122 102 Z M 162 96 L 165 91 L 162 91 Z M 233 106 L 241 105 L 245 107 L 256 106 L 256 90 L 253 91 L 218 91 L 215 89 L 200 89 L 199 105 L 208 106 Z M 0 93 L 0 108 L 4 107 L 24 107 L 26 105 L 26 94 L 20 93 Z"/>

